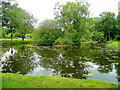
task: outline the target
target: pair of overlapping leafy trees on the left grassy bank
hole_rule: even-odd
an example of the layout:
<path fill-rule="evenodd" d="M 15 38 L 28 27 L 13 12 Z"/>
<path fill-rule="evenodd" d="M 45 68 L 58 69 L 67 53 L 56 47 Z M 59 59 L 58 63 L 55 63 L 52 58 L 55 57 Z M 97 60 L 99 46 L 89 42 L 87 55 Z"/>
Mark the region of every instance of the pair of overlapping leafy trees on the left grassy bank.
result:
<path fill-rule="evenodd" d="M 16 32 L 24 40 L 25 35 L 32 30 L 34 21 L 33 16 L 18 7 L 14 0 L 2 1 L 2 27 L 11 33 L 11 40 Z"/>

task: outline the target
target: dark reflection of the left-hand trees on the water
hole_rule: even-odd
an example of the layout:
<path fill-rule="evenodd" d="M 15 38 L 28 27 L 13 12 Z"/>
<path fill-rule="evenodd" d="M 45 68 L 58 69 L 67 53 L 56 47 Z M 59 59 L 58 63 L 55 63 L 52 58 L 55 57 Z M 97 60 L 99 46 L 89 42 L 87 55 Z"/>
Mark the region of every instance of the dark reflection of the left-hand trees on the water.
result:
<path fill-rule="evenodd" d="M 17 52 L 13 54 L 14 49 L 11 48 L 11 55 L 6 58 L 3 64 L 3 73 L 10 72 L 27 74 L 32 71 L 37 64 L 34 62 L 34 54 L 29 47 L 20 46 L 16 48 Z"/>

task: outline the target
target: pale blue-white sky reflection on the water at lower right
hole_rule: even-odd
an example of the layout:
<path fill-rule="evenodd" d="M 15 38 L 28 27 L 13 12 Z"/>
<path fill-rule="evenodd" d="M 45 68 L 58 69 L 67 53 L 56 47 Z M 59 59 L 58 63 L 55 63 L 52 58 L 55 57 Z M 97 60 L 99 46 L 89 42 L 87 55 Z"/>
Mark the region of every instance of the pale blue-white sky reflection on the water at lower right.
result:
<path fill-rule="evenodd" d="M 89 62 L 93 67 L 90 69 L 90 73 L 93 73 L 94 76 L 88 76 L 87 79 L 95 79 L 95 80 L 101 80 L 101 81 L 112 81 L 115 83 L 118 83 L 116 78 L 116 71 L 113 69 L 112 72 L 109 73 L 100 73 L 97 68 L 98 65 L 94 65 L 91 62 Z"/>

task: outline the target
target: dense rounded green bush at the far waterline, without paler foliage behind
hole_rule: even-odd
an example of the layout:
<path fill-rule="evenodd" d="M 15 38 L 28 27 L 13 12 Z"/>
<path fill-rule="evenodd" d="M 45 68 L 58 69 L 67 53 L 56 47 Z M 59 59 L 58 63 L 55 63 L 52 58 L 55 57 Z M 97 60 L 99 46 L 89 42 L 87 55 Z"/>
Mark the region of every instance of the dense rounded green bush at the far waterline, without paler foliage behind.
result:
<path fill-rule="evenodd" d="M 33 37 L 37 45 L 53 45 L 55 40 L 59 38 L 62 34 L 62 31 L 59 29 L 42 29 L 36 30 L 33 34 Z M 57 42 L 56 42 L 57 43 Z"/>

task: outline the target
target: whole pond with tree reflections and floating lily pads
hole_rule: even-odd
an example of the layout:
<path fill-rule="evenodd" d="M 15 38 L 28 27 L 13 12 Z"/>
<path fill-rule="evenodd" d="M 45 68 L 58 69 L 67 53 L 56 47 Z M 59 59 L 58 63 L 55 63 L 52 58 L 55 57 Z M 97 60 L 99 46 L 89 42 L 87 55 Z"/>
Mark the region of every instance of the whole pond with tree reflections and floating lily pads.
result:
<path fill-rule="evenodd" d="M 120 82 L 120 52 L 107 44 L 69 47 L 21 45 L 0 49 L 3 73 Z"/>

